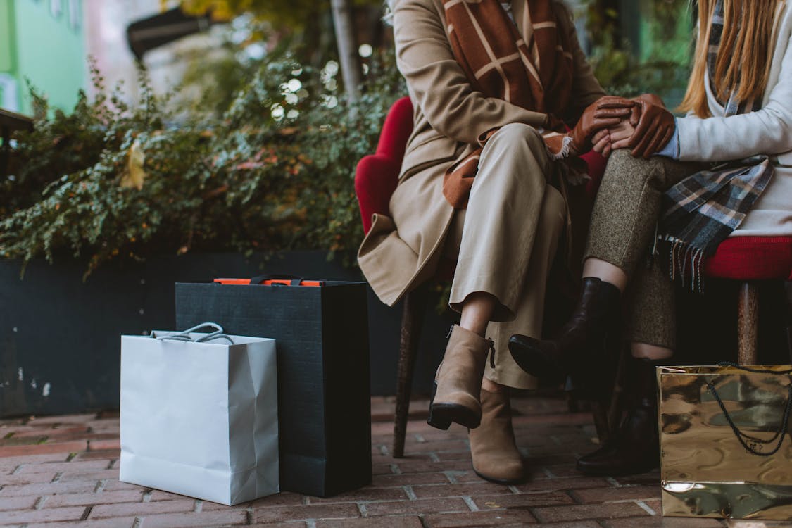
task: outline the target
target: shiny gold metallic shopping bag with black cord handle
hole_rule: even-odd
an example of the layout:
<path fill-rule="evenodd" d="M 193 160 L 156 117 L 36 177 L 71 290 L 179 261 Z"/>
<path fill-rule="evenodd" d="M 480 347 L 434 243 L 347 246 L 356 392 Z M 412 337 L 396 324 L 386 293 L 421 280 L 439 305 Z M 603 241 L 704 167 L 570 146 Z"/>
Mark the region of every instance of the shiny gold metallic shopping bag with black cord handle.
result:
<path fill-rule="evenodd" d="M 663 515 L 792 519 L 792 368 L 658 367 L 657 382 Z"/>

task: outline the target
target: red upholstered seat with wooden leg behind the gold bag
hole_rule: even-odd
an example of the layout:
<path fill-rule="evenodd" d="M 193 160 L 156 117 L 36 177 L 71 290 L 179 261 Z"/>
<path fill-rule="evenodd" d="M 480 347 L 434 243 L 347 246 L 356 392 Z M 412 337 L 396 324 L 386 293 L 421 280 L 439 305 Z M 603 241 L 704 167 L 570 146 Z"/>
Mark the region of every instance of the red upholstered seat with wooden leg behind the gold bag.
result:
<path fill-rule="evenodd" d="M 792 237 L 731 237 L 704 262 L 704 275 L 741 282 L 737 300 L 737 363 L 756 365 L 758 281 L 792 280 Z"/>

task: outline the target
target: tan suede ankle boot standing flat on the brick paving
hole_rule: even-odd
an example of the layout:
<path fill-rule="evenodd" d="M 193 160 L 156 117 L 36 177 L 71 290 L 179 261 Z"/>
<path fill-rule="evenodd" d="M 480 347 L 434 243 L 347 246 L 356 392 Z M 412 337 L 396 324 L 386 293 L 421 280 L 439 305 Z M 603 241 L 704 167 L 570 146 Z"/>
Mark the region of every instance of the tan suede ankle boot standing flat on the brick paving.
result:
<path fill-rule="evenodd" d="M 497 393 L 482 389 L 482 424 L 470 429 L 470 454 L 473 470 L 485 481 L 507 485 L 525 481 L 507 389 Z"/>

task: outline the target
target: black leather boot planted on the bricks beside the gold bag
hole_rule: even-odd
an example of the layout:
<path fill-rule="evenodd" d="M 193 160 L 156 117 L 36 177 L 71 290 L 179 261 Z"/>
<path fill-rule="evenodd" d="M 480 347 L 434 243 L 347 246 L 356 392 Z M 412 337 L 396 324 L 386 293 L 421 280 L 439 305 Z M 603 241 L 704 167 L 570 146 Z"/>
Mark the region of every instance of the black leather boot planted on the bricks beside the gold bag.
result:
<path fill-rule="evenodd" d="M 657 435 L 657 363 L 630 356 L 627 365 L 627 411 L 613 439 L 581 457 L 586 475 L 618 477 L 646 473 L 660 465 Z"/>

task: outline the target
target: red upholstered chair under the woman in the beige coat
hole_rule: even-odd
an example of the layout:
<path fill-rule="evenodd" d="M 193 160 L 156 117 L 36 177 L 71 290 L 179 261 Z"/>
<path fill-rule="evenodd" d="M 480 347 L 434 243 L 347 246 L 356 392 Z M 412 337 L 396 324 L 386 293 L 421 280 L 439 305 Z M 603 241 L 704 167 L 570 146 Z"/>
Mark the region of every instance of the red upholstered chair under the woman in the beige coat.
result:
<path fill-rule="evenodd" d="M 371 215 L 388 214 L 390 196 L 398 184 L 398 175 L 404 158 L 407 139 L 413 131 L 413 104 L 409 97 L 394 103 L 386 116 L 375 154 L 361 159 L 355 173 L 355 192 L 360 205 L 360 217 L 364 232 L 371 229 Z M 605 168 L 604 159 L 590 152 L 583 156 L 588 162 L 592 184 L 588 192 L 596 187 Z M 443 260 L 435 279 L 446 280 L 454 276 L 455 262 Z M 404 456 L 404 439 L 409 412 L 409 396 L 413 386 L 413 370 L 417 355 L 421 324 L 427 302 L 427 289 L 419 287 L 404 298 L 402 312 L 401 343 L 399 345 L 398 382 L 396 387 L 396 413 L 394 417 L 394 458 Z M 596 421 L 604 420 L 604 415 Z M 601 427 L 598 424 L 598 429 Z"/>

